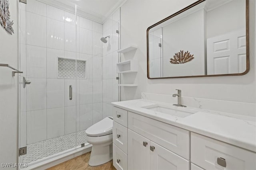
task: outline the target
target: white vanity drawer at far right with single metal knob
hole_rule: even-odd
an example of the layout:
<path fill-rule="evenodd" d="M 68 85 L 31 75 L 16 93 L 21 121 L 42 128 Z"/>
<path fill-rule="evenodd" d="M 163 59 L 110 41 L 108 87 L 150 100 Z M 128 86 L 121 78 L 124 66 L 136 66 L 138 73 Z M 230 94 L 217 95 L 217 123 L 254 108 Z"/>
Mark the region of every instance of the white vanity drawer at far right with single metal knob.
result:
<path fill-rule="evenodd" d="M 254 152 L 191 133 L 191 162 L 206 170 L 253 170 L 255 160 Z"/>

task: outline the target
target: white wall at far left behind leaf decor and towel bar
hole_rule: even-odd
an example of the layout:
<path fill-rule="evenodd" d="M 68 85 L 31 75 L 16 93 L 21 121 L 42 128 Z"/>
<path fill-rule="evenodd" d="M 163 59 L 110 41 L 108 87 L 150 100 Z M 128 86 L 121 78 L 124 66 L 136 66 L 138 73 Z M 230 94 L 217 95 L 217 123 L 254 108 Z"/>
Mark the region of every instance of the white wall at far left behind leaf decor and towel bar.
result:
<path fill-rule="evenodd" d="M 0 26 L 0 63 L 18 67 L 18 1 L 10 0 L 10 18 L 14 21 L 14 34 Z M 18 162 L 18 75 L 0 67 L 0 169 L 2 163 Z M 16 169 L 16 168 L 8 168 Z"/>

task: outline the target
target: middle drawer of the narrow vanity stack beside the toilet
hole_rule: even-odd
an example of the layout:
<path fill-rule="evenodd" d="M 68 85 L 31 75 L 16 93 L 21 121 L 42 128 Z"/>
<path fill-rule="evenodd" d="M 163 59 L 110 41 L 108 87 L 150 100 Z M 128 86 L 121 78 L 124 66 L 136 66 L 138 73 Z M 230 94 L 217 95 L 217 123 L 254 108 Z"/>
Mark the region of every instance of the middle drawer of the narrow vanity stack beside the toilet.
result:
<path fill-rule="evenodd" d="M 113 143 L 127 154 L 127 127 L 113 122 Z"/>

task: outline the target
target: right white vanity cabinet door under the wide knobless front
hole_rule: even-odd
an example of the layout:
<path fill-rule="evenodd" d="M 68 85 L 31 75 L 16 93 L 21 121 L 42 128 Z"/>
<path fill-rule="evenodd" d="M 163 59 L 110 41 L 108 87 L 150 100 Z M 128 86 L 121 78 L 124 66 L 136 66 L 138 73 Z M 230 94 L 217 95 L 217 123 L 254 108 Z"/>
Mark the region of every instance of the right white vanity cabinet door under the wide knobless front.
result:
<path fill-rule="evenodd" d="M 150 141 L 150 170 L 189 170 L 189 161 Z"/>

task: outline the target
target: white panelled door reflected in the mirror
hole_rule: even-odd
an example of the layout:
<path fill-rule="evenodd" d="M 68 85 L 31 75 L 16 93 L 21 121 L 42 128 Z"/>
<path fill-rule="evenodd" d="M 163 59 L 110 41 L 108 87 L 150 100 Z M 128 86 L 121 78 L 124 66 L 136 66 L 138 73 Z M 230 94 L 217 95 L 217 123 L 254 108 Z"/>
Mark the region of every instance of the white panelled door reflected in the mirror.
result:
<path fill-rule="evenodd" d="M 207 39 L 207 74 L 234 74 L 246 70 L 245 30 Z"/>

